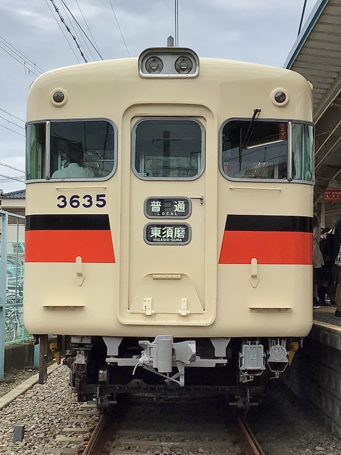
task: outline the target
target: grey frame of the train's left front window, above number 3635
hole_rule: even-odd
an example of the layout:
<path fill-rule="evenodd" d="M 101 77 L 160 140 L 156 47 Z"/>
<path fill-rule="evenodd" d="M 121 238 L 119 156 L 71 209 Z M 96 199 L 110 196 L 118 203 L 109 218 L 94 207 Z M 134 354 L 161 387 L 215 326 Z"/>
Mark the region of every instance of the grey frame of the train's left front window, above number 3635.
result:
<path fill-rule="evenodd" d="M 47 179 L 47 169 L 49 169 L 49 174 L 50 174 L 50 162 L 51 162 L 51 147 L 50 147 L 50 142 L 51 142 L 51 133 L 49 136 L 47 135 L 47 131 L 50 132 L 51 128 L 51 122 L 71 122 L 71 121 L 106 121 L 109 124 L 113 126 L 114 129 L 114 166 L 110 174 L 108 174 L 106 177 L 82 177 L 82 178 L 67 178 L 64 177 L 62 179 L 53 179 L 52 177 L 49 176 Z M 27 127 L 32 124 L 37 124 L 37 123 L 45 123 L 46 125 L 46 137 L 45 137 L 45 178 L 44 179 L 32 179 L 32 180 L 27 180 L 28 176 L 28 144 L 27 144 Z M 30 184 L 30 183 L 37 183 L 37 182 L 103 182 L 105 180 L 110 179 L 116 172 L 117 170 L 117 126 L 116 123 L 111 120 L 110 118 L 107 117 L 85 117 L 85 118 L 48 118 L 48 119 L 39 119 L 39 120 L 30 120 L 26 122 L 25 124 L 25 131 L 26 131 L 26 149 L 25 149 L 25 173 L 26 173 L 26 179 L 25 183 Z"/>

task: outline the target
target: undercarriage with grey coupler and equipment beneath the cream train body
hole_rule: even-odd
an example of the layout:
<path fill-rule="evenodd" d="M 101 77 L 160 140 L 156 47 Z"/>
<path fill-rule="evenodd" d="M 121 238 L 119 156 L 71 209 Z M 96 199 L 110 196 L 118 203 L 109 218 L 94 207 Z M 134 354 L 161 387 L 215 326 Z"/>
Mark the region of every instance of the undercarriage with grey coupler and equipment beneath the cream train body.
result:
<path fill-rule="evenodd" d="M 228 395 L 239 408 L 257 405 L 269 379 L 284 372 L 298 341 L 286 338 L 155 339 L 68 336 L 70 385 L 79 401 L 114 405 L 118 394 Z"/>

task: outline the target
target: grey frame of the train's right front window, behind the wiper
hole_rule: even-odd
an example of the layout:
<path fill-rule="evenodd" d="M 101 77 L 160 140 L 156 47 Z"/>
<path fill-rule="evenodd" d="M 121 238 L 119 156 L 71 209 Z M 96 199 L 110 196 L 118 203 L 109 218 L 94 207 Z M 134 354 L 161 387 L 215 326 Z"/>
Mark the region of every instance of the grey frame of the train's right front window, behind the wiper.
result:
<path fill-rule="evenodd" d="M 278 122 L 278 123 L 287 123 L 288 124 L 288 152 L 287 152 L 287 171 L 288 171 L 288 176 L 286 179 L 242 179 L 242 178 L 236 178 L 236 177 L 230 177 L 228 176 L 223 169 L 223 129 L 225 125 L 231 121 L 240 121 L 240 120 L 247 120 L 251 121 L 251 117 L 230 117 L 226 119 L 220 126 L 219 128 L 219 170 L 221 175 L 226 179 L 231 182 L 252 182 L 252 183 L 303 183 L 306 185 L 314 185 L 315 184 L 315 131 L 314 131 L 314 124 L 313 122 L 307 121 L 307 120 L 299 120 L 299 119 L 288 119 L 288 118 L 258 118 L 257 122 L 263 122 L 263 121 L 273 121 L 273 122 Z M 314 179 L 309 182 L 307 180 L 298 180 L 298 179 L 292 179 L 293 175 L 293 156 L 292 156 L 292 123 L 300 123 L 300 124 L 306 124 L 306 125 L 311 125 L 313 127 L 313 145 L 312 145 L 312 169 L 314 172 Z M 289 170 L 290 166 L 290 170 Z"/>

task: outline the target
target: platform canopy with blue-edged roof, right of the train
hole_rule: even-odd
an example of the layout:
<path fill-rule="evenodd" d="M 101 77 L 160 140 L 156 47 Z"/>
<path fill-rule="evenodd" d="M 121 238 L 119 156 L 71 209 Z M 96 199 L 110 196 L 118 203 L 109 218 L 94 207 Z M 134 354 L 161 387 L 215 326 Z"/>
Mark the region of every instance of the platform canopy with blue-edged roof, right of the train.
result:
<path fill-rule="evenodd" d="M 341 190 L 341 0 L 317 0 L 284 67 L 313 85 L 317 210 L 323 190 Z M 324 207 L 329 226 L 341 214 L 341 202 Z"/>

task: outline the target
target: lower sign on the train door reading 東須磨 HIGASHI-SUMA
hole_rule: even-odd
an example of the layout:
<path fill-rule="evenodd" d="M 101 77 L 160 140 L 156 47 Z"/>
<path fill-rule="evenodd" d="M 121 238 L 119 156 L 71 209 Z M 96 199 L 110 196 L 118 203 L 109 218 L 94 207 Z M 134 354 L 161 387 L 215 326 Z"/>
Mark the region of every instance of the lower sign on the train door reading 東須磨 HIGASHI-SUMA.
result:
<path fill-rule="evenodd" d="M 187 223 L 148 223 L 144 226 L 143 238 L 148 245 L 187 245 L 191 237 L 191 226 Z"/>

